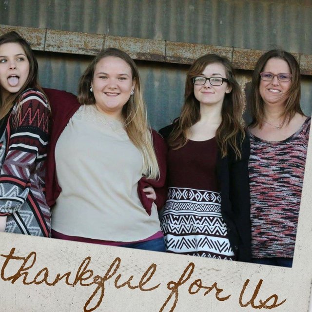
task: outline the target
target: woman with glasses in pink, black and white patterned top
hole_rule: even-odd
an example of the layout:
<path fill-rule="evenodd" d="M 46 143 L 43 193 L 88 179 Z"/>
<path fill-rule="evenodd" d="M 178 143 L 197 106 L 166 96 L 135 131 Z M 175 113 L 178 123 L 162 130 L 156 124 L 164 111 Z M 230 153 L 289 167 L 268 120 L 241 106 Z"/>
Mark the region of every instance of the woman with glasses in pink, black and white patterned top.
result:
<path fill-rule="evenodd" d="M 258 59 L 249 104 L 253 261 L 292 267 L 311 118 L 300 107 L 300 69 L 290 53 Z"/>

